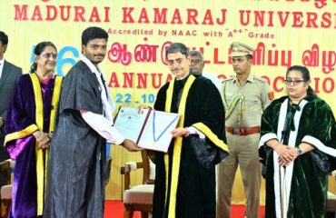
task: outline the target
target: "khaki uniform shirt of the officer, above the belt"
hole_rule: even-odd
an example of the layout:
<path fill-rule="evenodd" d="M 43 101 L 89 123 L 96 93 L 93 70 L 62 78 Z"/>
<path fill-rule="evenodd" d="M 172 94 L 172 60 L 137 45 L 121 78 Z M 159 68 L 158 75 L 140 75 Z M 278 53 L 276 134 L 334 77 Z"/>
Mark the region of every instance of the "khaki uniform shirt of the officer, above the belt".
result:
<path fill-rule="evenodd" d="M 233 76 L 222 82 L 221 90 L 225 115 L 228 114 L 228 105 L 232 104 L 235 94 L 242 95 L 242 101 L 232 105 L 232 114 L 227 117 L 226 126 L 249 128 L 261 125 L 262 111 L 272 100 L 271 89 L 264 79 L 250 74 L 241 85 L 237 77 Z"/>

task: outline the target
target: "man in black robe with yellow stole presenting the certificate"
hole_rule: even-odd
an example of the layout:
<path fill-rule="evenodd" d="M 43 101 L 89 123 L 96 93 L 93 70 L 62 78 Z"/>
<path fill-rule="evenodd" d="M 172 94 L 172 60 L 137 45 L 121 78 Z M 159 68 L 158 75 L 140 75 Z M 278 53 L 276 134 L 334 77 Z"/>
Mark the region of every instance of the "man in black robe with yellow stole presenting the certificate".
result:
<path fill-rule="evenodd" d="M 157 94 L 154 109 L 181 116 L 173 130 L 168 153 L 154 156 L 153 218 L 215 217 L 215 168 L 204 167 L 196 156 L 191 137 L 205 139 L 225 156 L 224 109 L 221 95 L 209 79 L 189 74 L 190 57 L 185 45 L 174 43 L 166 52 L 176 76 Z"/>

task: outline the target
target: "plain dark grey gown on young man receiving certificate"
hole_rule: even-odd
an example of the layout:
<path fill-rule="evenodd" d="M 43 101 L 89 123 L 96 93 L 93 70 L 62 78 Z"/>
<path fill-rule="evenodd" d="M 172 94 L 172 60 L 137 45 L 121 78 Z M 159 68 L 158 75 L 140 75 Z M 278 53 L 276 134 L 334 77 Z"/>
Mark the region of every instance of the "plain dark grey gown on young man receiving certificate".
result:
<path fill-rule="evenodd" d="M 44 217 L 103 217 L 105 140 L 84 122 L 81 109 L 103 114 L 98 80 L 83 61 L 64 77 Z"/>

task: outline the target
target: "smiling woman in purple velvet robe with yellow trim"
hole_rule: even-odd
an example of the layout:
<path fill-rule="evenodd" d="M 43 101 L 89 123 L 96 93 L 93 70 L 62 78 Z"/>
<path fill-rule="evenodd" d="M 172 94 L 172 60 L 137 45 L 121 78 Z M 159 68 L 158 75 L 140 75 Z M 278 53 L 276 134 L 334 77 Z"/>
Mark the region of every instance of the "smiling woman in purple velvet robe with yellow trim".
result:
<path fill-rule="evenodd" d="M 31 74 L 20 77 L 5 119 L 5 147 L 15 160 L 9 217 L 42 217 L 46 169 L 62 78 L 54 76 L 57 50 L 35 47 Z"/>

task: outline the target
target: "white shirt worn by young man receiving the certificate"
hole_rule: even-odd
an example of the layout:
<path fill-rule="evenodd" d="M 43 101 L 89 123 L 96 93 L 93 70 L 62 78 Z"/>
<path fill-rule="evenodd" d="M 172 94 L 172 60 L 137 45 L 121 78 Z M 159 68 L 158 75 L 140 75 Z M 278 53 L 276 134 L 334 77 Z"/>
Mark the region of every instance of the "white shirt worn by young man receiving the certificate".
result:
<path fill-rule="evenodd" d="M 102 90 L 101 97 L 105 114 L 104 116 L 102 114 L 94 114 L 89 111 L 80 110 L 82 117 L 87 124 L 89 124 L 98 134 L 102 135 L 107 140 L 107 143 L 122 144 L 125 138 L 113 126 L 115 104 L 110 92 L 106 93 L 108 86 L 104 83 L 104 81 L 102 81 L 102 71 L 95 67 L 94 64 L 92 64 L 91 61 L 84 55 L 81 55 L 81 60 L 90 68 L 98 79 Z"/>

